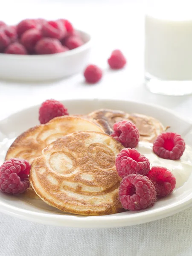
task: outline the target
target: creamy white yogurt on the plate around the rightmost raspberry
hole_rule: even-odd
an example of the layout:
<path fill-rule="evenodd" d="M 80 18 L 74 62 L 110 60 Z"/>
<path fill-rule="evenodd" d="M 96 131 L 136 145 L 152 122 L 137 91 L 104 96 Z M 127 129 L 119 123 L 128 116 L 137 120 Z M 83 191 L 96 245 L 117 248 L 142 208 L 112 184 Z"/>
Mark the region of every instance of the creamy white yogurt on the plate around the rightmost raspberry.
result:
<path fill-rule="evenodd" d="M 192 148 L 186 145 L 185 151 L 179 160 L 169 160 L 158 157 L 153 152 L 153 144 L 148 142 L 140 142 L 137 146 L 140 154 L 145 155 L 152 166 L 163 166 L 169 169 L 176 178 L 176 188 L 188 180 L 192 174 Z"/>

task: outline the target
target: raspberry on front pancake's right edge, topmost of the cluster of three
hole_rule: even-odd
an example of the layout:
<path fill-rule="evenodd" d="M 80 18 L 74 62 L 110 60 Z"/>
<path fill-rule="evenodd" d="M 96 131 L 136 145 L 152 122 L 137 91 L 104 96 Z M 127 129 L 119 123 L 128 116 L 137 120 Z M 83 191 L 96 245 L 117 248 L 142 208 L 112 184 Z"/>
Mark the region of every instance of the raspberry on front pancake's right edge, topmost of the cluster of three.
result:
<path fill-rule="evenodd" d="M 128 174 L 148 174 L 150 170 L 149 160 L 135 148 L 123 148 L 116 156 L 116 170 L 120 177 Z"/>

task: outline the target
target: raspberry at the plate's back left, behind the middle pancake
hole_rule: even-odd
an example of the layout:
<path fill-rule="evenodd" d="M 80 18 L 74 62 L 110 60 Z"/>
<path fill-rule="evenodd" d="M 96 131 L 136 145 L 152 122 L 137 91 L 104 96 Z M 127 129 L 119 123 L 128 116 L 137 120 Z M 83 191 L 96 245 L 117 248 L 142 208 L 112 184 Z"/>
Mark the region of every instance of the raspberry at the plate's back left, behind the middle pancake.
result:
<path fill-rule="evenodd" d="M 69 115 L 67 108 L 65 108 L 61 102 L 55 99 L 47 99 L 41 104 L 39 109 L 39 121 L 41 124 L 49 122 L 56 116 L 64 115 Z"/>

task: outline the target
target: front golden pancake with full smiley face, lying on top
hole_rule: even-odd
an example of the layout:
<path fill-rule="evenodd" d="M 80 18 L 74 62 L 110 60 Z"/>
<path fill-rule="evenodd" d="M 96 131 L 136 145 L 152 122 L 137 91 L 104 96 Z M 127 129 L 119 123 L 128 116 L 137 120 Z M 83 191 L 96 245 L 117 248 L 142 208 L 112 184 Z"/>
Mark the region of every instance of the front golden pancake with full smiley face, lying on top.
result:
<path fill-rule="evenodd" d="M 62 211 L 79 215 L 122 212 L 121 178 L 115 167 L 122 148 L 108 134 L 69 134 L 49 144 L 33 161 L 29 180 L 44 202 Z"/>

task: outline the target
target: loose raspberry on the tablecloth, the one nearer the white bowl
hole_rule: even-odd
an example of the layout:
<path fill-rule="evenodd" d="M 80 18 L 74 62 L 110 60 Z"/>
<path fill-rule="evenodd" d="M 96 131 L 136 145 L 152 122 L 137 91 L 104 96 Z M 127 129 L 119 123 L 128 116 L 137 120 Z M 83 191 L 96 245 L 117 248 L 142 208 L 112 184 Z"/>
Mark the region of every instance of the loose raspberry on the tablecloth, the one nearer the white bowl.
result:
<path fill-rule="evenodd" d="M 84 77 L 87 83 L 94 84 L 102 78 L 102 70 L 96 65 L 88 65 L 84 70 Z"/>

